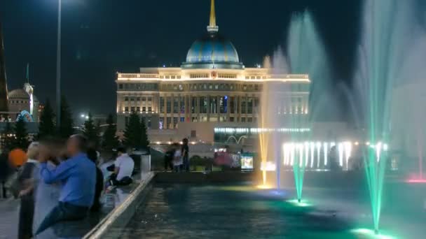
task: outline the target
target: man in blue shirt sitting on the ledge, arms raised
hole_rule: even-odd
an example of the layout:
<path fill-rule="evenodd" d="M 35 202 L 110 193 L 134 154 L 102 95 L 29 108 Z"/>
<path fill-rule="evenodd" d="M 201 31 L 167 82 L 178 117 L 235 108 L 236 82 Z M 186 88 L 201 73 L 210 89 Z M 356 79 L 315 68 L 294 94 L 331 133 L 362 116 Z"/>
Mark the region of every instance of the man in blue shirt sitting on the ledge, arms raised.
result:
<path fill-rule="evenodd" d="M 95 198 L 96 166 L 85 154 L 84 136 L 71 136 L 67 142 L 69 159 L 50 170 L 48 152 L 40 152 L 40 178 L 47 184 L 62 182 L 59 204 L 43 219 L 36 235 L 60 221 L 83 219 Z M 44 151 L 44 152 L 43 152 Z"/>

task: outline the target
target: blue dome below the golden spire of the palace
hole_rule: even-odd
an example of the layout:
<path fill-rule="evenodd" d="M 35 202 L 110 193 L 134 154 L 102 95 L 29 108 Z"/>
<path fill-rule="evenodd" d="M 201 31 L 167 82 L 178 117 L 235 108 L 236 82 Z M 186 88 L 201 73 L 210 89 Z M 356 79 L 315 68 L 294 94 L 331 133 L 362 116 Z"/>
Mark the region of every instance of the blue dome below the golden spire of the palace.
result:
<path fill-rule="evenodd" d="M 209 32 L 195 41 L 186 55 L 184 68 L 241 68 L 237 50 L 231 41 Z M 219 66 L 219 67 L 218 67 Z"/>

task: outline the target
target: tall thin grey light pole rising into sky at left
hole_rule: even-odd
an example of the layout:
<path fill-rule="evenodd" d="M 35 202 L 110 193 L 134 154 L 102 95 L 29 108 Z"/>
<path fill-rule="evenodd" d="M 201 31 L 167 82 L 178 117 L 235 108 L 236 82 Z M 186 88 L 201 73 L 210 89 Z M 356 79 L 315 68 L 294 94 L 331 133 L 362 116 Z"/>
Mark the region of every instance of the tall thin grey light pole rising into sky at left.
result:
<path fill-rule="evenodd" d="M 61 14 L 62 0 L 58 0 L 57 6 L 57 52 L 56 52 L 56 126 L 61 124 Z"/>

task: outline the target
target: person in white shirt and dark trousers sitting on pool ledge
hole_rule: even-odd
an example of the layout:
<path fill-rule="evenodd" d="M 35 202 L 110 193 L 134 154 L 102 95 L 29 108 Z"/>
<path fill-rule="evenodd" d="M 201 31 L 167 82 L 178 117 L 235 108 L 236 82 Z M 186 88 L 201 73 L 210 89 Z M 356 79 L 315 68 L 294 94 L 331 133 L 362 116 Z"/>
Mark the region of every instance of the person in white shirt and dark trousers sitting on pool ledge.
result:
<path fill-rule="evenodd" d="M 117 149 L 118 157 L 116 162 L 108 167 L 109 171 L 114 171 L 111 176 L 109 176 L 109 184 L 111 186 L 125 186 L 131 184 L 132 173 L 135 169 L 135 162 L 127 154 L 127 150 L 124 147 L 118 147 Z"/>

